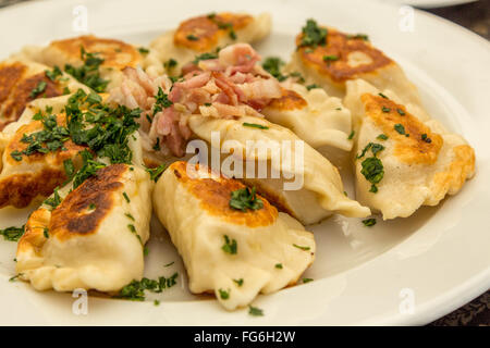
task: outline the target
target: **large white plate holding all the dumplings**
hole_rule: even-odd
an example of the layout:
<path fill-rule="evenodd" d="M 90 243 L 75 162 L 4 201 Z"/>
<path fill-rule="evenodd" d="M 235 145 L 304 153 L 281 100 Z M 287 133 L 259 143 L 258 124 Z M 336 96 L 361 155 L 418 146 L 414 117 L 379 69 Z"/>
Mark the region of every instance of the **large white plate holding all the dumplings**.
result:
<path fill-rule="evenodd" d="M 79 0 L 41 1 L 0 11 L 0 55 L 26 44 L 74 36 Z M 399 8 L 366 1 L 86 1 L 89 30 L 99 36 L 147 44 L 181 20 L 221 10 L 273 14 L 273 34 L 258 46 L 264 55 L 287 58 L 305 20 L 351 33 L 367 33 L 376 46 L 399 60 L 420 88 L 427 108 L 475 147 L 478 173 L 438 208 L 409 219 L 366 228 L 357 219 L 333 217 L 311 227 L 317 260 L 305 276 L 315 281 L 270 296 L 246 310 L 224 311 L 215 300 L 194 297 L 181 286 L 163 293 L 161 304 L 89 297 L 88 314 L 72 312 L 69 294 L 38 293 L 9 283 L 15 245 L 0 241 L 0 324 L 192 324 L 324 325 L 425 324 L 469 301 L 490 286 L 490 46 L 469 32 L 416 11 L 411 27 Z M 75 12 L 74 12 L 75 11 Z M 82 10 L 82 12 L 84 12 Z M 403 17 L 405 15 L 405 17 Z M 411 14 L 408 14 L 411 15 Z M 407 22 L 408 21 L 408 22 Z M 402 25 L 401 25 L 402 23 Z M 413 32 L 406 30 L 412 28 Z M 405 30 L 403 30 L 405 29 Z M 7 35 L 11 33 L 11 35 Z M 25 212 L 0 211 L 0 225 L 21 224 Z M 379 219 L 378 219 L 379 221 Z M 158 224 L 155 224 L 158 226 Z M 182 263 L 160 228 L 154 228 L 146 274 L 182 272 Z M 176 261 L 168 269 L 163 264 Z M 152 299 L 154 297 L 149 297 Z M 413 311 L 409 306 L 413 303 Z"/>

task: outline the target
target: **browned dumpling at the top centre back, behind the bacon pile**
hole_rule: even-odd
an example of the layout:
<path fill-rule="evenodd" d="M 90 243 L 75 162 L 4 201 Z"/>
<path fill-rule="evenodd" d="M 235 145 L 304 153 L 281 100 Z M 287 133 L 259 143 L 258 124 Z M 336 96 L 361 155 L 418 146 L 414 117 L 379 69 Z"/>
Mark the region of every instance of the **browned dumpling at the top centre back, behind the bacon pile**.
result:
<path fill-rule="evenodd" d="M 164 62 L 169 75 L 180 75 L 182 67 L 196 55 L 215 51 L 234 42 L 255 42 L 271 28 L 268 13 L 257 16 L 240 13 L 211 13 L 182 22 L 151 44 Z"/>

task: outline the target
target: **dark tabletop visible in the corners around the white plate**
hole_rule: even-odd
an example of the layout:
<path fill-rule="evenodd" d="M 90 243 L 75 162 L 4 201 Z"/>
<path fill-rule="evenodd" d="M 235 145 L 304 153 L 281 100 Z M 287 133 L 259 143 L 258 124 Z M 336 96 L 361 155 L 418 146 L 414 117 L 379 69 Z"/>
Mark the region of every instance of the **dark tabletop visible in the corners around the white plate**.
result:
<path fill-rule="evenodd" d="M 28 0 L 0 0 L 0 8 Z M 422 9 L 424 10 L 424 9 Z M 457 23 L 467 29 L 490 40 L 490 0 L 424 10 Z M 489 62 L 490 63 L 490 62 Z M 436 326 L 489 326 L 490 325 L 490 290 L 458 310 L 434 321 Z"/>

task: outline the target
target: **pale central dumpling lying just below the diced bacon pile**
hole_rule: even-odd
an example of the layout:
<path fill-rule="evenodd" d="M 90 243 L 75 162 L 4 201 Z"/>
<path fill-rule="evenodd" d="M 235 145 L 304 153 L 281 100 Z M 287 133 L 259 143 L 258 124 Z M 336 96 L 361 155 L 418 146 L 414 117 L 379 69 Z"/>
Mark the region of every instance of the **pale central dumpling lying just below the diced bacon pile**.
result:
<path fill-rule="evenodd" d="M 370 213 L 368 208 L 344 195 L 338 169 L 287 128 L 253 116 L 223 120 L 196 115 L 189 117 L 188 126 L 212 147 L 232 152 L 225 161 L 236 161 L 242 166 L 245 160 L 257 162 L 256 169 L 265 167 L 264 175 L 243 170 L 241 177 L 230 163 L 221 165 L 225 175 L 256 186 L 303 224 L 317 223 L 331 213 L 356 217 Z M 220 142 L 212 140 L 212 133 L 219 135 Z M 284 146 L 291 150 L 284 150 Z"/>

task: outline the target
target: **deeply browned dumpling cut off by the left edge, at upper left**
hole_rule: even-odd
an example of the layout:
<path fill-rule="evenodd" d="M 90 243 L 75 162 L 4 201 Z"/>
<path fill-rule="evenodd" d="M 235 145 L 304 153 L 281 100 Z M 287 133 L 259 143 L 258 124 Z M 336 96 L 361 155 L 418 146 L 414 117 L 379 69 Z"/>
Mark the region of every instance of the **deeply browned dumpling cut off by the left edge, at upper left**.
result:
<path fill-rule="evenodd" d="M 25 59 L 0 63 L 0 130 L 15 122 L 26 104 L 37 98 L 52 98 L 85 88 L 73 77 Z"/>

